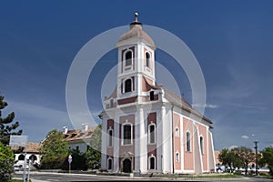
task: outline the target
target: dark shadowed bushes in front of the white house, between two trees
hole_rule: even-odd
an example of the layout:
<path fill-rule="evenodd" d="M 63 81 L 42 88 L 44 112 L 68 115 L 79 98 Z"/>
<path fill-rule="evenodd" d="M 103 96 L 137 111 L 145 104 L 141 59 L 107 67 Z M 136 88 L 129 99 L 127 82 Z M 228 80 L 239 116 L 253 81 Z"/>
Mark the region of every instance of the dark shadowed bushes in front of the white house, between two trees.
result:
<path fill-rule="evenodd" d="M 71 170 L 87 170 L 87 159 L 83 153 L 80 153 L 77 150 L 72 150 L 70 152 L 72 156 Z M 63 170 L 69 169 L 68 157 L 62 166 Z"/>

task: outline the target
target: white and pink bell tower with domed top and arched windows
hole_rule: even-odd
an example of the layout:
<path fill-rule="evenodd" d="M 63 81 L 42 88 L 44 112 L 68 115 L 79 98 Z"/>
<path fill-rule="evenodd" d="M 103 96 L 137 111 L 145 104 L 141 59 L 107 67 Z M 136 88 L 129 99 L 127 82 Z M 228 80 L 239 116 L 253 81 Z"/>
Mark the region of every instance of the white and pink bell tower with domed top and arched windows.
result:
<path fill-rule="evenodd" d="M 118 98 L 141 96 L 145 82 L 155 86 L 155 50 L 152 38 L 142 29 L 137 20 L 130 24 L 130 30 L 119 37 L 117 89 Z"/>

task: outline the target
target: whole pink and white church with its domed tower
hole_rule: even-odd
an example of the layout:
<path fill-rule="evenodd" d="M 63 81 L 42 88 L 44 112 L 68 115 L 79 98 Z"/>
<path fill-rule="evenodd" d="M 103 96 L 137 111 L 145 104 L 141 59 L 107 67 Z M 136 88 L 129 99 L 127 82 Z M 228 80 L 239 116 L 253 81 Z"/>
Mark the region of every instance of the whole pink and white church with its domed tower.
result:
<path fill-rule="evenodd" d="M 215 171 L 212 122 L 157 86 L 153 39 L 137 20 L 119 37 L 116 88 L 106 96 L 101 168 L 113 173 Z"/>

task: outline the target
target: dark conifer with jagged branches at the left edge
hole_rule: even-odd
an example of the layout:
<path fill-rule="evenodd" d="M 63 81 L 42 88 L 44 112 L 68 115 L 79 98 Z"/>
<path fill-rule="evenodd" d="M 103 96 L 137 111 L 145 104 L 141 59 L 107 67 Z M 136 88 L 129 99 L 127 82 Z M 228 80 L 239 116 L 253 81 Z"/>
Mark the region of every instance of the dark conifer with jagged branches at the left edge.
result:
<path fill-rule="evenodd" d="M 19 126 L 19 122 L 16 121 L 12 124 L 15 113 L 12 112 L 6 117 L 2 117 L 2 109 L 7 106 L 7 103 L 4 101 L 4 96 L 0 95 L 0 142 L 2 142 L 5 146 L 9 144 L 9 136 L 15 135 L 20 136 L 23 132 L 22 129 L 15 131 L 15 129 Z"/>

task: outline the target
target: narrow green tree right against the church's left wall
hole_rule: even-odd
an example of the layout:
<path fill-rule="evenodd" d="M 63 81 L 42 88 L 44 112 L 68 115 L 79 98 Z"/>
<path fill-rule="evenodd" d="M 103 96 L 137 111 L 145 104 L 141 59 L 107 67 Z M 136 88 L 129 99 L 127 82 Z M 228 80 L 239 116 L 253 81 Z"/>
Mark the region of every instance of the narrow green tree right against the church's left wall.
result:
<path fill-rule="evenodd" d="M 88 168 L 98 168 L 101 163 L 101 131 L 102 126 L 96 126 L 90 141 L 90 147 L 85 153 Z"/>

